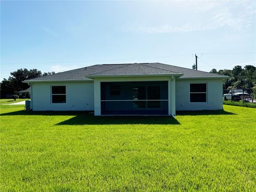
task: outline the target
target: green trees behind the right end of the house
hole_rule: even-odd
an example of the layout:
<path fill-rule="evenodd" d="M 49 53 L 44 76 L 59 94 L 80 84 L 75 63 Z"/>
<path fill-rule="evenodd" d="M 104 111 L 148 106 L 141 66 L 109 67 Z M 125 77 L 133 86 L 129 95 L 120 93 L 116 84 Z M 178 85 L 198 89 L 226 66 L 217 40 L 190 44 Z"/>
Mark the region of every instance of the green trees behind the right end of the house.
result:
<path fill-rule="evenodd" d="M 256 67 L 252 65 L 235 66 L 233 69 L 212 69 L 210 73 L 227 75 L 229 78 L 223 83 L 223 90 L 230 89 L 256 89 Z"/>

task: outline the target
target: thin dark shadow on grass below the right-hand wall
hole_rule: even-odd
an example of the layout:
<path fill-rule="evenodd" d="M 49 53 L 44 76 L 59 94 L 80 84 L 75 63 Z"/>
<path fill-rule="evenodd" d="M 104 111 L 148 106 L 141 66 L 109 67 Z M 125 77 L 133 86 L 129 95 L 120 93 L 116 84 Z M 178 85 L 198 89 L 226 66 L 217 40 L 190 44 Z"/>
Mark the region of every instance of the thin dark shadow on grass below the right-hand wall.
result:
<path fill-rule="evenodd" d="M 225 110 L 176 111 L 177 115 L 237 115 Z"/>

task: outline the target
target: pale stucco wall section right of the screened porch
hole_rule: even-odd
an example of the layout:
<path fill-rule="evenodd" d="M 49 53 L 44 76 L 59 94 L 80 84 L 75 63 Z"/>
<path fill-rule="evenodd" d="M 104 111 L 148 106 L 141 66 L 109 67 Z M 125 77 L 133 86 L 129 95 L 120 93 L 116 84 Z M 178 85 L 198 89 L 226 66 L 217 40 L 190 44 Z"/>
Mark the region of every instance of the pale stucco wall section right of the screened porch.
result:
<path fill-rule="evenodd" d="M 189 84 L 207 83 L 207 102 L 190 103 Z M 176 110 L 218 110 L 222 109 L 222 79 L 176 79 Z"/>

